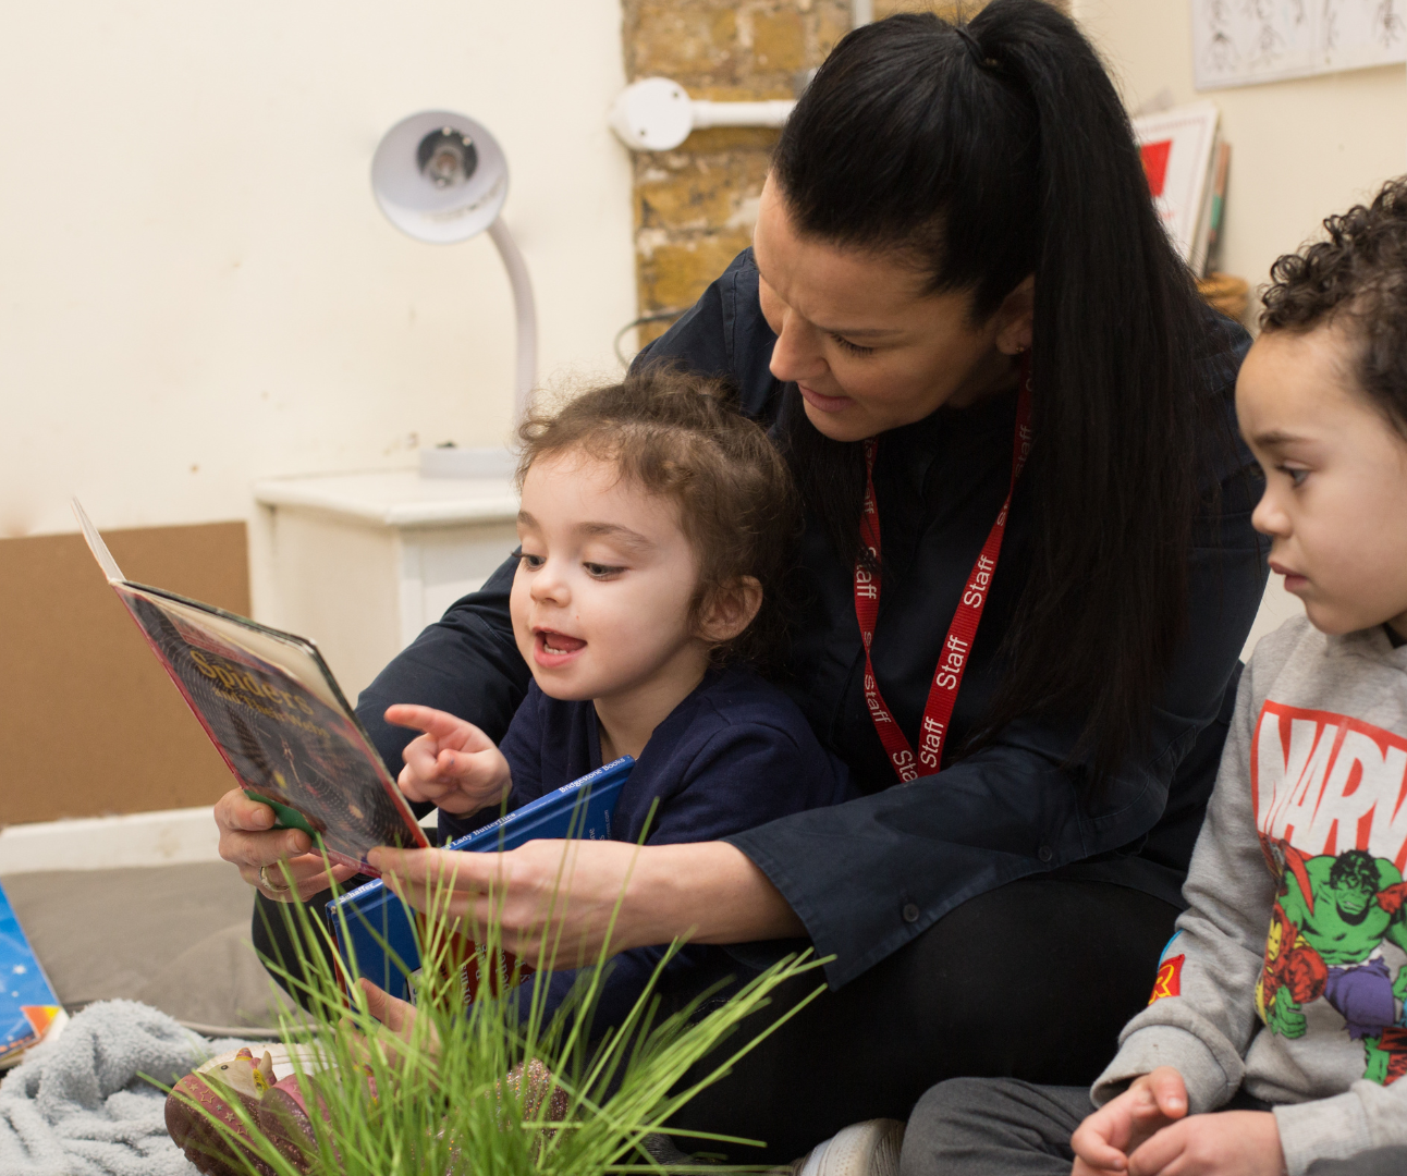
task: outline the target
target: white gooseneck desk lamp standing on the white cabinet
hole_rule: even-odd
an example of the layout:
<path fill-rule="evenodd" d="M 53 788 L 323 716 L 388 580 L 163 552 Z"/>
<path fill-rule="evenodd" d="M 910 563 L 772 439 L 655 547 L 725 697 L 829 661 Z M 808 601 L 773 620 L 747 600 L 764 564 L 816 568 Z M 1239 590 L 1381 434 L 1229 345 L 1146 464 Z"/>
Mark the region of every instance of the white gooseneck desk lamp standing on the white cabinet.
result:
<path fill-rule="evenodd" d="M 412 114 L 381 138 L 371 159 L 371 190 L 390 222 L 416 241 L 452 245 L 488 231 L 508 270 L 518 315 L 516 425 L 537 378 L 537 312 L 523 256 L 498 215 L 508 197 L 508 160 L 498 141 L 463 114 Z M 421 474 L 429 478 L 507 477 L 512 470 L 512 453 L 502 447 L 421 450 Z"/>

